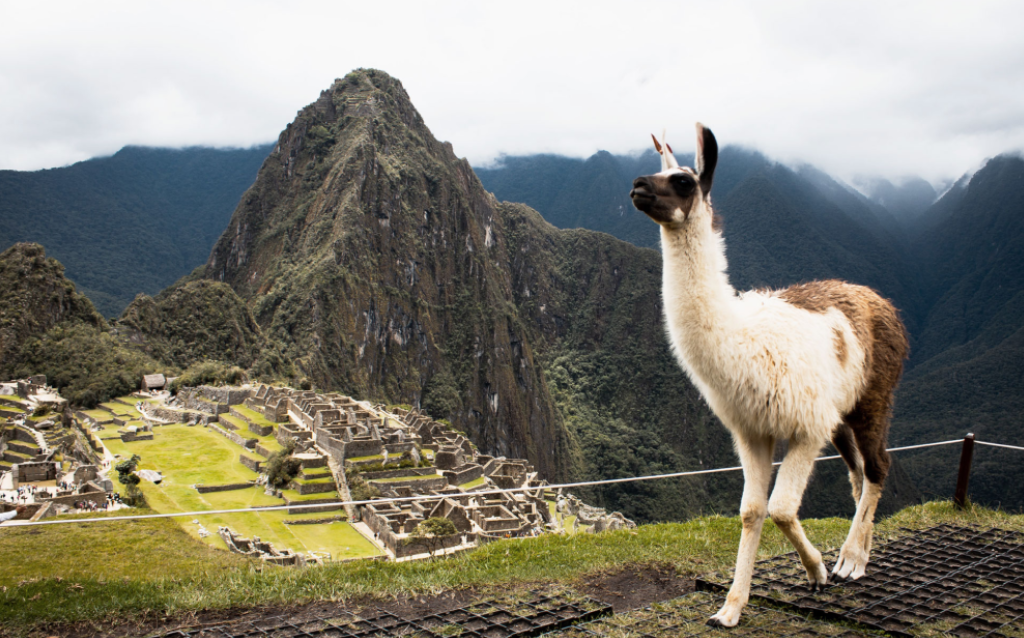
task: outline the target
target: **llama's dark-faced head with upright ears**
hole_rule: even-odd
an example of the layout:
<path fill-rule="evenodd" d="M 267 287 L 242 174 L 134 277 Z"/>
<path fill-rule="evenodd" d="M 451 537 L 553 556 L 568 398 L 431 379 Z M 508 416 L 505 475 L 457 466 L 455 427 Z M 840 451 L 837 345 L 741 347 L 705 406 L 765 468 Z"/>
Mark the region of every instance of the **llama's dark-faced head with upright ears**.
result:
<path fill-rule="evenodd" d="M 633 206 L 669 227 L 681 227 L 695 219 L 711 220 L 711 182 L 718 163 L 718 142 L 711 129 L 697 123 L 696 167 L 680 167 L 672 147 L 653 135 L 654 148 L 662 156 L 662 172 L 633 180 Z"/>

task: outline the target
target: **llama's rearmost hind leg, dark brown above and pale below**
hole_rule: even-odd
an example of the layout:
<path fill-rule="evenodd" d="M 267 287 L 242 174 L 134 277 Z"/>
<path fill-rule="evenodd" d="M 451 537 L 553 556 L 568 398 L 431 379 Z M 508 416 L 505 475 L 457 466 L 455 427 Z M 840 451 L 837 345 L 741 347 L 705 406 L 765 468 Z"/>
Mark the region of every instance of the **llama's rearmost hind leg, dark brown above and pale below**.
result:
<path fill-rule="evenodd" d="M 864 482 L 857 511 L 850 523 L 850 534 L 839 552 L 836 566 L 833 567 L 833 576 L 838 580 L 856 581 L 864 576 L 871 553 L 874 510 L 882 498 L 889 471 L 889 453 L 885 450 L 885 439 L 858 436 L 857 443 L 864 460 Z"/>

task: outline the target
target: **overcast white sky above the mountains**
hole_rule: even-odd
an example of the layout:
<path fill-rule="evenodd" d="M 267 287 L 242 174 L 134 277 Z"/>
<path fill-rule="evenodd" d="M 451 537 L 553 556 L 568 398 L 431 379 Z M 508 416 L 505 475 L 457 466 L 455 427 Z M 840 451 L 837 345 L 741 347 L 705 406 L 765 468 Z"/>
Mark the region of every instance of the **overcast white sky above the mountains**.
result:
<path fill-rule="evenodd" d="M 663 128 L 692 148 L 700 120 L 847 180 L 939 182 L 1024 147 L 1022 17 L 977 0 L 0 0 L 0 168 L 271 141 L 372 67 L 475 165 L 628 153 Z"/>

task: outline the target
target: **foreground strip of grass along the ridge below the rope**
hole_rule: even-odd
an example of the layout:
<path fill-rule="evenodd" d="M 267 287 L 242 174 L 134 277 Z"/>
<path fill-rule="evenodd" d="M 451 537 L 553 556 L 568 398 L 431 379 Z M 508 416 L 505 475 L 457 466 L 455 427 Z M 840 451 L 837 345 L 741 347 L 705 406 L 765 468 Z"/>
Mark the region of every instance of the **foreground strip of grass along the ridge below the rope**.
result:
<path fill-rule="evenodd" d="M 901 527 L 940 522 L 1024 528 L 1024 516 L 981 508 L 957 511 L 949 503 L 931 503 L 880 521 L 876 542 L 883 543 Z M 811 542 L 825 551 L 843 543 L 849 521 L 808 520 L 805 528 Z M 668 563 L 681 576 L 693 577 L 730 568 L 739 530 L 737 518 L 709 516 L 635 530 L 499 541 L 432 561 L 261 569 L 211 550 L 166 520 L 5 527 L 0 528 L 0 586 L 6 587 L 0 587 L 0 626 L 17 635 L 44 622 L 101 620 L 109 614 L 152 618 L 183 609 L 368 594 L 410 596 L 465 587 L 528 591 L 539 583 L 571 584 L 628 564 Z M 781 533 L 767 522 L 759 557 L 790 551 Z"/>

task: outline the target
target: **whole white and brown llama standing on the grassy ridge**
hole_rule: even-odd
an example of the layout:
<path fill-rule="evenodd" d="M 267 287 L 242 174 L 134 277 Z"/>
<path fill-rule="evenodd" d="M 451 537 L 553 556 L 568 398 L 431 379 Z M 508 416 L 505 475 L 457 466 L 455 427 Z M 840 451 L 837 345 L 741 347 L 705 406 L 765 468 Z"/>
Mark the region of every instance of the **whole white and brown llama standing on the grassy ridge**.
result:
<path fill-rule="evenodd" d="M 829 439 L 849 467 L 857 505 L 831 575 L 864 575 L 907 340 L 892 304 L 862 286 L 824 281 L 736 293 L 711 206 L 718 142 L 710 129 L 696 128 L 695 169 L 681 168 L 668 143 L 654 138 L 662 172 L 634 180 L 630 198 L 660 225 L 672 349 L 732 434 L 743 467 L 736 571 L 725 604 L 708 622 L 733 627 L 750 597 L 766 515 L 796 547 L 811 589 L 827 582 L 797 512 L 814 459 Z M 778 440 L 787 440 L 788 450 L 769 501 Z"/>

